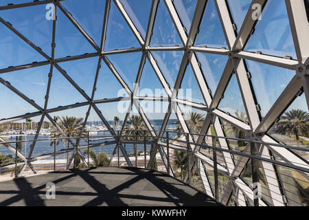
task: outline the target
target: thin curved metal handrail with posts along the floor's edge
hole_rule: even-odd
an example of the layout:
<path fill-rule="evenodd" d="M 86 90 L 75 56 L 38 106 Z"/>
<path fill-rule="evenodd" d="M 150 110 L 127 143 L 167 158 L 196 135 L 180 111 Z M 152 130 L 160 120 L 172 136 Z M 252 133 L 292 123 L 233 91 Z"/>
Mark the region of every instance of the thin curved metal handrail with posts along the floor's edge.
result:
<path fill-rule="evenodd" d="M 38 139 L 36 140 L 36 142 L 42 142 L 42 141 L 50 141 L 51 143 L 54 142 L 54 144 L 52 144 L 54 146 L 54 151 L 50 152 L 50 153 L 43 153 L 41 155 L 38 155 L 36 157 L 31 157 L 29 160 L 24 160 L 23 162 L 21 162 L 20 160 L 18 161 L 17 159 L 15 159 L 15 162 L 12 164 L 8 164 L 6 166 L 0 167 L 0 171 L 3 170 L 12 170 L 15 167 L 15 173 L 16 173 L 16 167 L 17 166 L 22 166 L 24 164 L 31 164 L 32 162 L 36 162 L 36 161 L 40 161 L 42 159 L 47 159 L 50 157 L 54 157 L 54 170 L 56 170 L 56 155 L 62 155 L 62 154 L 66 154 L 66 153 L 71 153 L 71 152 L 76 152 L 76 148 L 78 149 L 88 149 L 88 162 L 87 164 L 89 164 L 89 148 L 95 148 L 98 146 L 110 146 L 110 145 L 114 145 L 115 144 L 115 150 L 113 153 L 117 152 L 118 155 L 118 160 L 117 160 L 117 164 L 119 166 L 119 148 L 122 144 L 144 144 L 144 166 L 146 168 L 146 145 L 147 144 L 152 144 L 154 145 L 156 148 L 158 148 L 158 146 L 163 146 L 166 147 L 168 149 L 168 153 L 166 155 L 165 153 L 165 159 L 167 159 L 167 164 L 164 162 L 165 159 L 163 159 L 163 164 L 165 164 L 165 167 L 167 167 L 167 173 L 168 175 L 174 175 L 174 171 L 172 169 L 170 169 L 170 148 L 174 148 L 175 151 L 183 151 L 184 153 L 187 153 L 188 158 L 190 157 L 190 159 L 187 159 L 187 172 L 188 172 L 188 176 L 187 176 L 187 183 L 190 184 L 190 178 L 192 178 L 190 176 L 190 164 L 192 163 L 192 159 L 198 158 L 201 159 L 201 161 L 205 162 L 206 164 L 209 164 L 209 161 L 211 161 L 214 164 L 214 172 L 216 173 L 216 175 L 214 175 L 214 180 L 215 180 L 215 194 L 214 197 L 218 197 L 218 170 L 222 169 L 222 165 L 220 164 L 220 162 L 218 162 L 218 152 L 220 153 L 229 153 L 231 155 L 240 155 L 242 157 L 247 157 L 247 158 L 251 158 L 251 166 L 254 167 L 254 171 L 255 175 L 254 175 L 254 179 L 257 179 L 257 175 L 256 172 L 258 172 L 258 168 L 256 168 L 256 166 L 258 166 L 257 164 L 255 164 L 255 161 L 262 161 L 262 162 L 266 162 L 266 163 L 270 163 L 270 164 L 274 164 L 274 165 L 279 165 L 282 167 L 286 167 L 286 168 L 290 168 L 293 170 L 297 170 L 300 173 L 304 173 L 305 175 L 308 175 L 309 177 L 309 163 L 304 161 L 304 164 L 299 164 L 297 165 L 296 162 L 292 163 L 292 162 L 284 162 L 284 161 L 278 161 L 273 159 L 273 157 L 262 157 L 263 155 L 256 155 L 255 153 L 252 153 L 252 149 L 255 148 L 255 144 L 264 144 L 264 145 L 269 145 L 269 146 L 278 146 L 278 147 L 282 147 L 282 148 L 287 148 L 287 149 L 294 149 L 297 151 L 304 151 L 304 152 L 309 152 L 308 148 L 302 148 L 302 147 L 297 147 L 297 146 L 288 146 L 288 145 L 283 145 L 283 144 L 273 144 L 273 143 L 267 143 L 267 142 L 262 142 L 262 141 L 257 141 L 257 140 L 251 140 L 251 139 L 241 139 L 241 138 L 237 138 L 237 137 L 220 137 L 220 136 L 215 136 L 215 135 L 205 135 L 205 134 L 198 134 L 198 133 L 184 133 L 184 132 L 177 132 L 177 131 L 155 131 L 155 132 L 163 132 L 166 133 L 166 135 L 164 136 L 151 136 L 149 133 L 149 131 L 136 131 L 135 133 L 137 133 L 137 135 L 119 135 L 119 132 L 116 133 L 116 135 L 89 135 L 88 131 L 83 131 L 81 133 L 80 136 L 73 136 L 73 137 L 55 137 L 57 133 L 51 133 L 49 138 L 43 138 L 43 139 Z M 84 135 L 85 133 L 88 133 L 88 135 Z M 100 133 L 100 131 L 98 132 Z M 162 133 L 162 134 L 163 134 Z M 183 138 L 183 140 L 181 140 L 180 138 L 175 138 L 175 137 L 170 137 L 170 133 L 178 133 L 183 135 L 185 138 Z M 52 137 L 54 134 L 54 137 Z M 211 137 L 213 146 L 211 144 L 207 144 L 207 142 L 203 142 L 203 143 L 196 143 L 194 142 L 193 139 L 190 140 L 190 135 L 203 135 L 204 137 Z M 10 136 L 14 136 L 14 135 L 10 135 Z M 174 135 L 173 135 L 174 136 Z M 137 138 L 138 137 L 138 138 Z M 225 140 L 235 140 L 235 141 L 242 141 L 242 142 L 247 142 L 250 143 L 250 146 L 247 146 L 249 148 L 251 148 L 251 153 L 247 153 L 247 152 L 242 152 L 242 151 L 234 151 L 231 150 L 230 148 L 222 148 L 222 147 L 218 147 L 216 146 L 216 141 L 219 140 L 220 138 L 224 138 Z M 64 148 L 61 149 L 60 151 L 56 151 L 56 140 L 84 140 L 84 142 L 86 142 L 86 144 L 80 145 L 82 144 L 82 142 L 80 142 L 78 144 L 78 146 L 73 146 L 72 148 Z M 91 140 L 92 139 L 92 140 Z M 98 140 L 99 139 L 99 140 Z M 109 140 L 108 140 L 109 139 Z M 94 142 L 95 141 L 95 142 Z M 4 147 L 8 147 L 6 145 L 8 144 L 17 144 L 17 143 L 23 143 L 23 142 L 34 142 L 34 140 L 16 140 L 16 141 L 8 141 L 8 142 L 0 142 L 0 146 L 4 146 Z M 181 145 L 177 145 L 177 144 L 183 144 L 183 146 Z M 175 145 L 176 144 L 176 145 Z M 220 144 L 219 144 L 220 145 Z M 51 148 L 53 146 L 50 146 Z M 195 148 L 193 148 L 193 146 L 195 147 L 201 147 L 203 149 L 211 149 L 212 150 L 212 158 L 211 155 L 204 155 L 205 157 L 201 157 L 201 153 L 199 153 L 198 151 L 195 151 Z M 227 145 L 228 146 L 228 145 Z M 10 148 L 10 151 L 12 151 L 12 149 L 14 149 L 14 153 L 15 153 L 15 148 Z M 155 150 L 157 152 L 157 150 Z M 13 153 L 13 151 L 12 151 Z M 166 158 L 166 156 L 168 156 L 168 158 Z M 16 151 L 16 155 L 15 158 L 19 157 L 19 155 L 17 155 L 17 151 Z M 111 164 L 111 159 L 112 159 L 113 155 L 110 158 L 110 164 Z M 151 161 L 151 155 L 149 157 L 149 161 L 148 161 L 148 166 L 149 163 Z M 308 165 L 306 165 L 308 164 Z M 218 165 L 218 168 L 217 168 Z M 135 152 L 135 166 L 137 166 L 137 155 Z M 308 166 L 308 167 L 307 167 Z M 225 166 L 224 166 L 225 167 Z M 220 170 L 220 173 L 223 175 L 228 175 L 229 171 L 227 172 L 223 172 L 222 170 Z M 16 176 L 18 174 L 15 174 Z M 307 178 L 309 179 L 309 178 Z M 255 199 L 256 200 L 256 199 Z M 255 201 L 255 205 L 258 204 L 258 201 Z"/>

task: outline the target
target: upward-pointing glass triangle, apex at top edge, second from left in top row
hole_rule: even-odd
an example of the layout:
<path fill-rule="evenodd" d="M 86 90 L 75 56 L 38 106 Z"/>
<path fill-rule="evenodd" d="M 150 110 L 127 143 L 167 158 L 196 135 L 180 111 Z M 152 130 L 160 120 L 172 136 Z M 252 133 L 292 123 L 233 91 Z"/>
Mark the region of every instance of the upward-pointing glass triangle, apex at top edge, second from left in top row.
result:
<path fill-rule="evenodd" d="M 111 1 L 104 50 L 128 49 L 131 47 L 140 47 L 139 42 L 115 3 Z"/>

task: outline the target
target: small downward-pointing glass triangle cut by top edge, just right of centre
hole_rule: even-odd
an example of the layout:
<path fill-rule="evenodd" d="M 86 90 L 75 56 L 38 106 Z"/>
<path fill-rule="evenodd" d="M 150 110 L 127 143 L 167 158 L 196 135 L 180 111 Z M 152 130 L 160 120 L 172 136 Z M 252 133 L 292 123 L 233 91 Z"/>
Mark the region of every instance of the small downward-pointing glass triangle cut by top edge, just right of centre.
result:
<path fill-rule="evenodd" d="M 187 34 L 189 34 L 197 0 L 174 0 L 173 3 L 183 25 L 185 25 Z"/>

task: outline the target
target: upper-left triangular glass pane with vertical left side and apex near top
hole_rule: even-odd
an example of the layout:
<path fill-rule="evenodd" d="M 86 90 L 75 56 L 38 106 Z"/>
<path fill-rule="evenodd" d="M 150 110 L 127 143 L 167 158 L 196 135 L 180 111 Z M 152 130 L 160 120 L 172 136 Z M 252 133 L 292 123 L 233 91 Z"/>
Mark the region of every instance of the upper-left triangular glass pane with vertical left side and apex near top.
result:
<path fill-rule="evenodd" d="M 55 43 L 56 58 L 95 52 L 89 41 L 61 10 L 57 10 Z"/>

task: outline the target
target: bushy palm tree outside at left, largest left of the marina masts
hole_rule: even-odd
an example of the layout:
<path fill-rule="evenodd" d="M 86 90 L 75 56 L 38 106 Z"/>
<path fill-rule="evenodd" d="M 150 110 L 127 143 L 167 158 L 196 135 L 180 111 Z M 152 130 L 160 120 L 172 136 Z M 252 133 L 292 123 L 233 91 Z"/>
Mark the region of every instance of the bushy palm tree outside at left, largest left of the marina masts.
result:
<path fill-rule="evenodd" d="M 80 132 L 82 132 L 82 124 L 80 123 L 84 120 L 83 118 L 62 116 L 62 118 L 58 117 L 58 120 L 60 120 L 58 125 L 60 126 L 62 131 L 65 131 L 67 137 L 77 137 L 78 135 L 80 135 Z M 55 135 L 56 137 L 65 137 L 64 135 L 62 135 L 62 133 L 52 133 L 50 137 L 54 138 Z M 60 142 L 63 142 L 63 146 L 65 147 L 65 145 L 67 144 L 67 139 L 52 140 L 50 146 L 52 146 L 54 142 L 56 142 L 57 146 Z M 70 148 L 70 143 L 67 144 L 67 148 Z M 68 162 L 69 162 L 69 153 L 67 153 L 67 163 Z M 80 157 L 78 155 L 74 155 L 74 167 L 76 167 L 76 165 L 78 165 L 79 162 Z"/>

